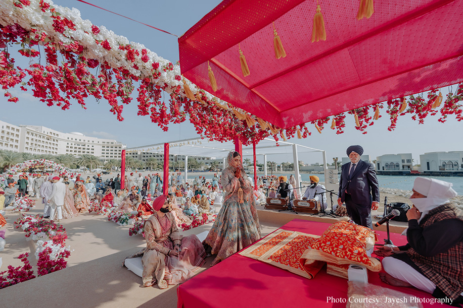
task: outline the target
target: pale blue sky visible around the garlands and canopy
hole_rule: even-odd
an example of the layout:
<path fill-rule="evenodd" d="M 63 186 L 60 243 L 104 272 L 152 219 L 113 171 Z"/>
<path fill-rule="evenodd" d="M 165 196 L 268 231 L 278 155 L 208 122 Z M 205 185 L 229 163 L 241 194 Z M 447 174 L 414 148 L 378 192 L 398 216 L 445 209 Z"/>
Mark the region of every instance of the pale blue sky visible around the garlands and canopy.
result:
<path fill-rule="evenodd" d="M 132 2 L 89 0 L 88 2 L 177 35 L 186 32 L 220 3 L 209 0 Z M 179 58 L 175 36 L 77 1 L 57 0 L 55 4 L 77 8 L 83 19 L 88 19 L 97 26 L 104 25 L 116 34 L 126 36 L 129 41 L 143 43 L 173 63 Z M 20 66 L 27 65 L 27 61 L 20 60 L 23 57 L 19 54 L 13 56 Z M 444 95 L 447 92 L 447 89 L 442 89 Z M 0 119 L 14 125 L 41 125 L 62 132 L 77 131 L 87 136 L 114 138 L 127 147 L 198 137 L 189 121 L 180 125 L 173 124 L 168 132 L 163 132 L 148 116 L 136 115 L 136 100 L 129 105 L 124 105 L 122 115 L 125 120 L 119 122 L 116 116 L 109 112 L 110 106 L 105 100 L 97 102 L 89 98 L 86 101 L 86 110 L 74 102 L 69 110 L 62 111 L 56 106 L 48 107 L 34 98 L 31 93 L 18 91 L 15 94 L 19 97 L 16 104 L 7 102 L 3 95 L 0 96 L 2 106 Z M 384 109 L 382 115 L 383 117 L 376 121 L 375 125 L 368 128 L 366 135 L 355 130 L 354 118 L 348 115 L 344 134 L 336 135 L 335 131 L 328 128 L 320 135 L 312 125 L 308 124 L 312 136 L 303 140 L 292 140 L 305 146 L 326 150 L 328 162 L 332 162 L 332 157 L 346 156 L 345 149 L 351 144 L 362 145 L 365 154 L 369 154 L 372 159 L 382 154 L 412 153 L 415 162 L 419 160 L 419 155 L 425 152 L 463 151 L 462 123 L 451 116 L 445 124 L 437 121 L 438 116 L 428 116 L 424 125 L 419 125 L 418 121 L 413 121 L 409 115 L 401 116 L 397 121 L 396 130 L 389 132 L 387 130 L 389 117 Z M 307 163 L 321 162 L 319 154 L 303 155 L 299 159 Z M 272 160 L 291 161 L 292 155 L 281 155 L 273 157 Z"/>

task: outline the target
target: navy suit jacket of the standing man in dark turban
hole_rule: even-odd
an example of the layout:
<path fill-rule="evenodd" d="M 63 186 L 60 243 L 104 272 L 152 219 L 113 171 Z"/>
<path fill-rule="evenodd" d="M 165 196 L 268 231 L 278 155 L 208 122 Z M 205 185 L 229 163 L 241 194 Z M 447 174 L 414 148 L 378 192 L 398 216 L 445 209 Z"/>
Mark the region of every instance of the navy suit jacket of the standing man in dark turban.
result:
<path fill-rule="evenodd" d="M 351 179 L 349 179 L 349 167 L 350 162 L 341 167 L 341 179 L 339 181 L 341 201 L 344 202 L 346 189 L 349 187 L 352 201 L 356 204 L 369 206 L 372 201 L 380 202 L 378 179 L 373 164 L 359 160 Z"/>

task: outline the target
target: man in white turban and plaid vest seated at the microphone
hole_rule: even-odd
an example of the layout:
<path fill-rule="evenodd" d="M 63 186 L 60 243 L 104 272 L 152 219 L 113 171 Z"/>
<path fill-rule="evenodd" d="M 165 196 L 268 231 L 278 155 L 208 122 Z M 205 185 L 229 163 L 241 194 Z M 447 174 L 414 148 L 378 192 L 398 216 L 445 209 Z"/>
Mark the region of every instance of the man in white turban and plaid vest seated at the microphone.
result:
<path fill-rule="evenodd" d="M 463 210 L 450 204 L 457 194 L 452 183 L 417 177 L 408 210 L 408 243 L 387 245 L 375 253 L 383 259 L 381 280 L 394 286 L 414 286 L 442 298 L 462 303 Z M 444 299 L 445 298 L 445 299 Z"/>

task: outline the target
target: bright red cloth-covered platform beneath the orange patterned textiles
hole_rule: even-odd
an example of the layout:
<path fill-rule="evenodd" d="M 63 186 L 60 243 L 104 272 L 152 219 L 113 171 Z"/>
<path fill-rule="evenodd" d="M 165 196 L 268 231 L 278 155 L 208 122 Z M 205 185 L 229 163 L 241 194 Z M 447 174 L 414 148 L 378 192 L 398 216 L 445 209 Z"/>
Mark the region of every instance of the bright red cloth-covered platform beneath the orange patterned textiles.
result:
<path fill-rule="evenodd" d="M 329 223 L 294 219 L 282 227 L 286 230 L 321 235 Z M 386 232 L 377 231 L 379 242 Z M 406 237 L 391 233 L 395 245 L 406 243 Z M 378 273 L 369 272 L 368 282 L 391 288 L 411 297 L 433 298 L 415 288 L 392 287 L 381 282 Z M 345 307 L 347 280 L 328 275 L 322 269 L 314 279 L 307 279 L 283 269 L 239 254 L 222 261 L 178 286 L 177 307 Z M 344 302 L 333 302 L 331 298 Z M 440 305 L 435 303 L 432 306 Z M 423 302 L 424 307 L 431 307 Z"/>

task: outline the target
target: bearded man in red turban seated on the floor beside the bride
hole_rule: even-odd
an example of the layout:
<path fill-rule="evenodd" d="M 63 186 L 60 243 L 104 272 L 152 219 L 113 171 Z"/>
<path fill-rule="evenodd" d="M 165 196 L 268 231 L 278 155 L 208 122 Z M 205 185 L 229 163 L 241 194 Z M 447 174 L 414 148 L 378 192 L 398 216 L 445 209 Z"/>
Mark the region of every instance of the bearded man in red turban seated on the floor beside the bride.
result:
<path fill-rule="evenodd" d="M 196 235 L 180 235 L 165 195 L 154 200 L 153 208 L 154 215 L 145 222 L 143 285 L 157 283 L 165 289 L 191 278 L 193 271 L 204 264 L 206 252 Z"/>

